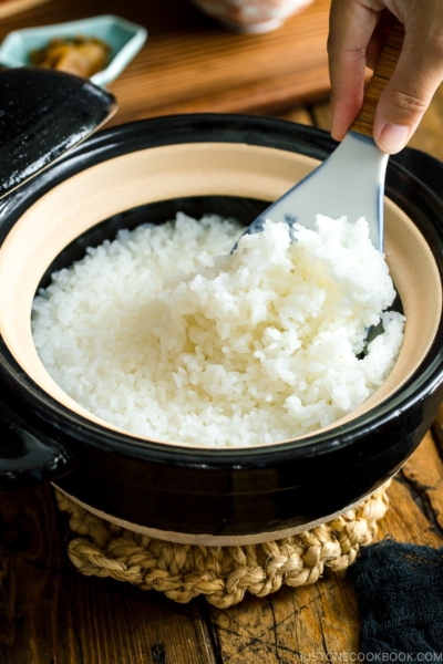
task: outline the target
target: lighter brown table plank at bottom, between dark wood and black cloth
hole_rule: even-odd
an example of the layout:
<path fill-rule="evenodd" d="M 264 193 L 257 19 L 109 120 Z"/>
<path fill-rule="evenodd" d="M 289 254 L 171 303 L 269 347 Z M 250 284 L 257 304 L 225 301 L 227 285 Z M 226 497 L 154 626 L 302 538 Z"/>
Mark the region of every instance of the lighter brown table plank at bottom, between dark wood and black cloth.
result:
<path fill-rule="evenodd" d="M 359 614 L 343 574 L 265 599 L 245 599 L 228 611 L 213 609 L 222 661 L 281 664 L 327 661 L 327 652 L 358 652 Z"/>

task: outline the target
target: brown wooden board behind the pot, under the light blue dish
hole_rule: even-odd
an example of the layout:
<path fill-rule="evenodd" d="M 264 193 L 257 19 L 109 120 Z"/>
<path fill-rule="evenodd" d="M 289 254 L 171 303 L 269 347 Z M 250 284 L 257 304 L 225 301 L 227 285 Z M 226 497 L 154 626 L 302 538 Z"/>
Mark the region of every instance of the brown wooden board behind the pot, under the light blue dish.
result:
<path fill-rule="evenodd" d="M 228 32 L 184 0 L 52 0 L 3 20 L 0 39 L 19 28 L 115 13 L 150 34 L 110 85 L 120 103 L 111 124 L 169 113 L 268 112 L 328 93 L 329 6 L 316 0 L 278 30 L 250 35 Z"/>

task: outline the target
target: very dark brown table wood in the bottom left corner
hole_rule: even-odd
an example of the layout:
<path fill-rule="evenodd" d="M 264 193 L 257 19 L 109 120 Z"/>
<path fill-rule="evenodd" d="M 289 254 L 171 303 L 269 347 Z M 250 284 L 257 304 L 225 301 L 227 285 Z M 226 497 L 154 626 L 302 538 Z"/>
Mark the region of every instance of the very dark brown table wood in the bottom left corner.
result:
<path fill-rule="evenodd" d="M 0 662 L 215 664 L 198 603 L 85 578 L 49 486 L 0 495 Z"/>

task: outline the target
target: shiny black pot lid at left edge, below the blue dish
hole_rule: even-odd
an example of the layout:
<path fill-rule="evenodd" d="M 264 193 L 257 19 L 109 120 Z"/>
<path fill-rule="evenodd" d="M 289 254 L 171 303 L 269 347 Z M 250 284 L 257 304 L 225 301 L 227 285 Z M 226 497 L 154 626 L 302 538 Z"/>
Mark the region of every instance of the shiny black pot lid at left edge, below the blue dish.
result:
<path fill-rule="evenodd" d="M 0 71 L 0 198 L 115 111 L 114 96 L 86 79 L 42 68 Z"/>

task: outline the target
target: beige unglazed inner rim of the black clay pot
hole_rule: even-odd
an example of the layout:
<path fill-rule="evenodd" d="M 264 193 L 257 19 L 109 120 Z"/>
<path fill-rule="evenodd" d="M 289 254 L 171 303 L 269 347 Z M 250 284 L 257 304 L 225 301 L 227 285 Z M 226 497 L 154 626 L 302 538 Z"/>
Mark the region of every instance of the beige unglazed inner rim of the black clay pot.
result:
<path fill-rule="evenodd" d="M 194 447 L 144 438 L 114 427 L 85 411 L 54 383 L 32 341 L 30 312 L 38 286 L 48 267 L 70 242 L 103 219 L 124 214 L 128 208 L 213 195 L 275 200 L 317 165 L 318 162 L 310 157 L 269 147 L 179 144 L 128 153 L 61 183 L 23 214 L 1 250 L 0 330 L 10 352 L 45 393 L 80 416 L 124 433 L 138 443 L 146 439 Z M 434 340 L 442 293 L 432 251 L 413 221 L 390 200 L 385 201 L 385 221 L 387 260 L 408 318 L 400 357 L 383 385 L 362 406 L 310 436 L 356 419 L 384 402 L 416 371 Z M 288 440 L 267 446 L 284 443 Z"/>

